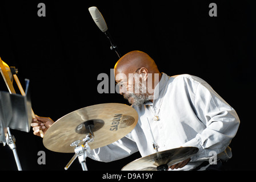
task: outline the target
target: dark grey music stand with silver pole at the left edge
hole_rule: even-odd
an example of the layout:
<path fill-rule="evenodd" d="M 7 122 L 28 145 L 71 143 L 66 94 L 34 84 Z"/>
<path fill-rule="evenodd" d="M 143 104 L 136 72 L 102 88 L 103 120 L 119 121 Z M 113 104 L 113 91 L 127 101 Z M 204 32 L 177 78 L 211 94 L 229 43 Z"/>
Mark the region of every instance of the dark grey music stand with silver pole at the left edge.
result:
<path fill-rule="evenodd" d="M 10 133 L 10 129 L 19 131 L 30 131 L 32 122 L 31 101 L 29 92 L 29 80 L 26 81 L 26 96 L 20 94 L 10 94 L 0 91 L 0 143 L 6 143 L 13 150 L 15 162 L 18 170 L 21 171 L 21 164 L 15 146 L 15 138 Z"/>

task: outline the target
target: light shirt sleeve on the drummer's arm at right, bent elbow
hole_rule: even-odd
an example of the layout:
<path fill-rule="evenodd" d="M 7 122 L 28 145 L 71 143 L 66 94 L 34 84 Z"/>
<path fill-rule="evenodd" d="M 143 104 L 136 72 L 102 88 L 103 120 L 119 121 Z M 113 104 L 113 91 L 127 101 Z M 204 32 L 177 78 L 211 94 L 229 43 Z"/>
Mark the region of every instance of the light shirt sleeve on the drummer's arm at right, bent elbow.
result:
<path fill-rule="evenodd" d="M 194 107 L 205 129 L 182 145 L 199 148 L 197 154 L 191 157 L 191 161 L 210 158 L 213 151 L 217 154 L 225 151 L 231 139 L 235 137 L 240 123 L 235 110 L 207 83 L 198 84 Z"/>

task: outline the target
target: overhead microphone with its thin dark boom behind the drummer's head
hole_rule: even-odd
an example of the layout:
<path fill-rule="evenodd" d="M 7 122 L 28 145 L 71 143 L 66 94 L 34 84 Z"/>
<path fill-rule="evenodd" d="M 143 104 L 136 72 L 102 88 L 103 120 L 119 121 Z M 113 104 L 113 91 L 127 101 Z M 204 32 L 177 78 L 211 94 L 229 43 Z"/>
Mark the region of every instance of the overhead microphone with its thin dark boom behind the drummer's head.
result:
<path fill-rule="evenodd" d="M 91 17 L 93 18 L 96 25 L 99 27 L 99 30 L 101 30 L 109 39 L 110 41 L 110 49 L 114 50 L 117 53 L 117 56 L 119 59 L 121 58 L 121 54 L 117 48 L 117 45 L 115 45 L 113 38 L 111 37 L 109 30 L 107 28 L 107 24 L 105 22 L 105 19 L 103 18 L 101 12 L 98 10 L 96 6 L 89 7 L 89 12 L 91 14 Z"/>

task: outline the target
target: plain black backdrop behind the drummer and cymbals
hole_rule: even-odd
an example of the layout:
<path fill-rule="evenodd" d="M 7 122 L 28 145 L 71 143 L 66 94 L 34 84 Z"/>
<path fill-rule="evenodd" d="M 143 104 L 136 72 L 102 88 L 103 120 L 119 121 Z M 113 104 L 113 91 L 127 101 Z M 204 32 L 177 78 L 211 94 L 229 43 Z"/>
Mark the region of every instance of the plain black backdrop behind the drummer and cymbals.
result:
<path fill-rule="evenodd" d="M 39 17 L 38 3 L 46 5 Z M 217 17 L 209 4 L 217 4 Z M 140 50 L 167 75 L 189 73 L 206 80 L 241 120 L 230 144 L 230 170 L 256 169 L 255 3 L 253 1 L 1 1 L 0 57 L 30 79 L 35 114 L 54 121 L 82 107 L 127 102 L 117 93 L 97 92 L 99 73 L 110 76 L 118 60 L 88 8 L 97 6 L 122 55 Z M 1 90 L 6 90 L 0 79 Z M 18 92 L 17 87 L 15 89 Z M 47 150 L 42 138 L 12 130 L 23 170 L 64 170 L 73 154 Z M 46 164 L 38 165 L 38 151 Z M 111 163 L 87 158 L 90 170 L 120 170 L 138 153 Z M 0 170 L 17 170 L 8 146 L 0 146 Z M 70 167 L 81 170 L 76 160 Z"/>

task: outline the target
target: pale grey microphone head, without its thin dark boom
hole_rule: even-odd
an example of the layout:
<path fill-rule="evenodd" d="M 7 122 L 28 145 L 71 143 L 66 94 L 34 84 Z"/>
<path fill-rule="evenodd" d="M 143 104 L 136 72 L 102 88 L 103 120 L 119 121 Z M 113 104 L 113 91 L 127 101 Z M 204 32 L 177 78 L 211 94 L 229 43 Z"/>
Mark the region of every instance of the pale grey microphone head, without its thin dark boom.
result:
<path fill-rule="evenodd" d="M 107 31 L 107 24 L 101 14 L 101 12 L 99 12 L 99 10 L 97 9 L 97 7 L 92 6 L 89 7 L 89 12 L 91 14 L 91 17 L 93 18 L 94 22 L 97 24 L 97 26 L 99 27 L 99 29 L 102 32 L 106 32 Z"/>

